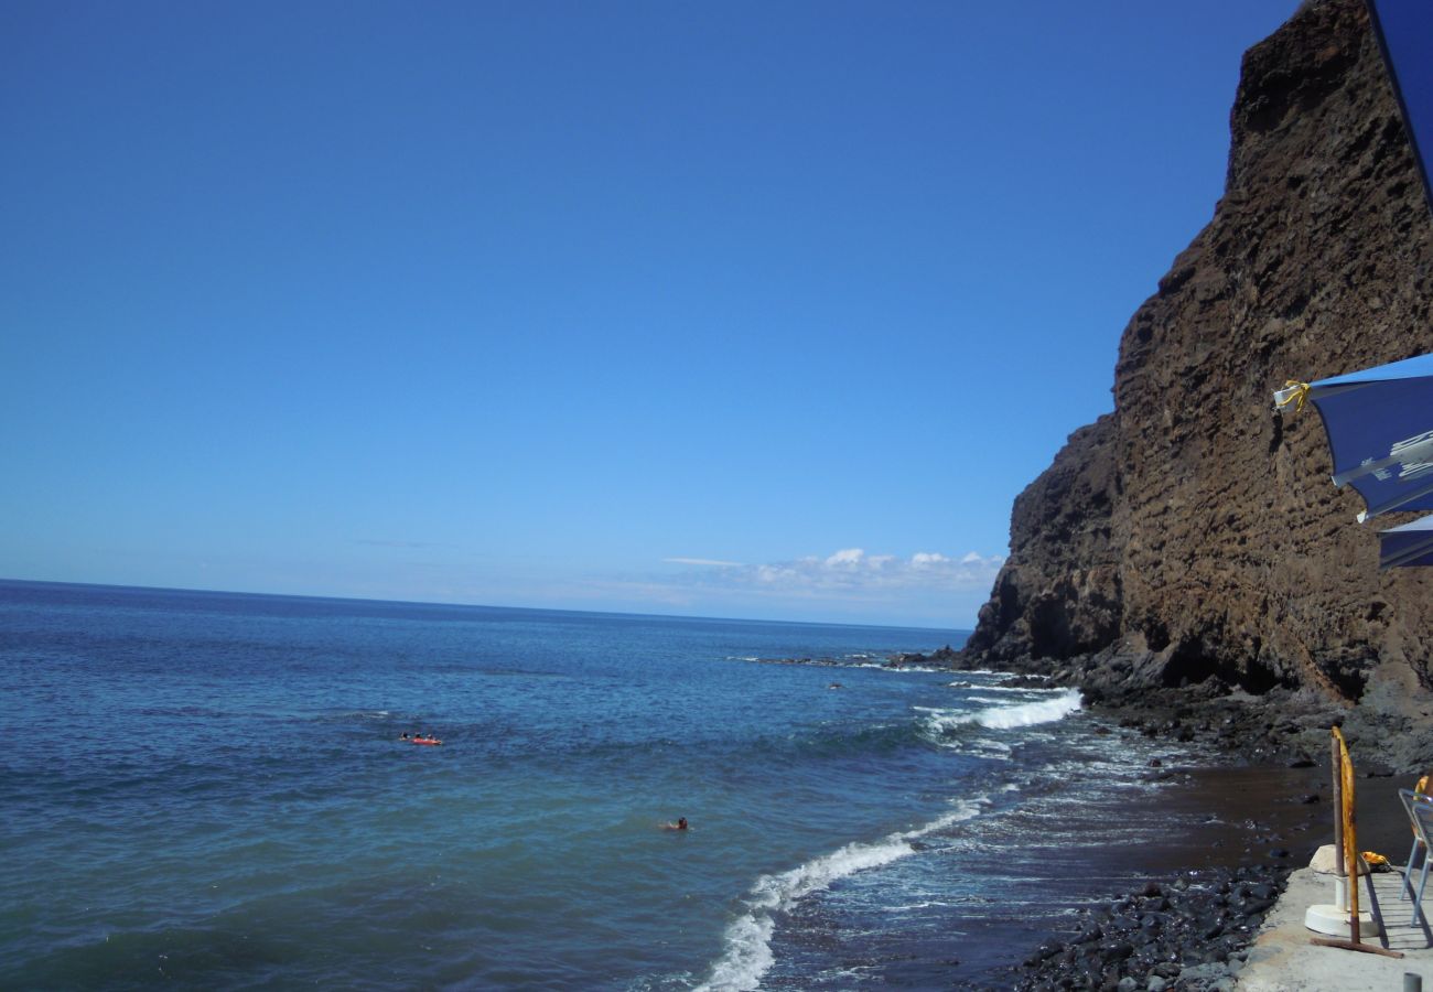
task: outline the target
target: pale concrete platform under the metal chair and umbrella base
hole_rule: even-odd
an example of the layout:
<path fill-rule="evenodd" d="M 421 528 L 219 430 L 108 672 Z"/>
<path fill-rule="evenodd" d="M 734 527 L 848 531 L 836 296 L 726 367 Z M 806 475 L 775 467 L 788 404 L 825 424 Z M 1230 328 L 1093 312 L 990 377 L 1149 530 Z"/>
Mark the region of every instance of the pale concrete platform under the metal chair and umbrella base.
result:
<path fill-rule="evenodd" d="M 1360 882 L 1360 909 L 1371 910 L 1384 930 L 1383 938 L 1367 943 L 1401 950 L 1401 960 L 1311 945 L 1310 939 L 1318 935 L 1304 926 L 1304 913 L 1315 903 L 1327 903 L 1333 887 L 1328 876 L 1303 869 L 1290 876 L 1288 889 L 1260 927 L 1235 988 L 1245 992 L 1401 992 L 1403 975 L 1413 973 L 1423 978 L 1426 992 L 1433 992 L 1433 929 L 1426 913 L 1414 926 L 1413 903 L 1399 899 L 1401 870 L 1369 874 Z M 1424 910 L 1433 910 L 1433 886 L 1424 897 Z"/>

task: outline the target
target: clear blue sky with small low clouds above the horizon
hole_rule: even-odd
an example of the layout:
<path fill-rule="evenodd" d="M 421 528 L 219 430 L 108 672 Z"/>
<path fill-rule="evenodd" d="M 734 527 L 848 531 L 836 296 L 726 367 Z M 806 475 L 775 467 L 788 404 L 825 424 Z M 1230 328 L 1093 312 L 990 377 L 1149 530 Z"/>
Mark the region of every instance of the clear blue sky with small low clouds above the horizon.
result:
<path fill-rule="evenodd" d="M 0 4 L 0 576 L 972 626 L 1294 0 Z"/>

